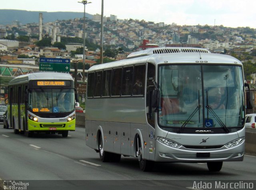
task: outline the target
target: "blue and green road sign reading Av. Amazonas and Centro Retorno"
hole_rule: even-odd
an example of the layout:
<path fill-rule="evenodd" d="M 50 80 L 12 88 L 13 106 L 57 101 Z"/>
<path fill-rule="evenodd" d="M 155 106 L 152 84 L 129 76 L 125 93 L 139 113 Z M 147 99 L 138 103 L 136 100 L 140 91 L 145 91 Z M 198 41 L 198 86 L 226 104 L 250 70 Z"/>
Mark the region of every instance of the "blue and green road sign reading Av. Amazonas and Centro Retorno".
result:
<path fill-rule="evenodd" d="M 39 70 L 69 72 L 70 71 L 70 59 L 40 58 Z"/>

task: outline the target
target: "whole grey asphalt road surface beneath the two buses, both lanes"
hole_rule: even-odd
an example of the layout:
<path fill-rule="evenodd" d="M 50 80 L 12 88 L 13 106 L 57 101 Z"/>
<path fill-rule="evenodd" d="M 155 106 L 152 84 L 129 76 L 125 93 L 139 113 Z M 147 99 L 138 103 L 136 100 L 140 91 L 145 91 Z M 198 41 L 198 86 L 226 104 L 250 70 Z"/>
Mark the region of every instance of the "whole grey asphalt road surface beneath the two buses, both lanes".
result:
<path fill-rule="evenodd" d="M 232 189 L 227 183 L 256 189 L 255 163 L 256 156 L 246 155 L 243 162 L 224 162 L 220 172 L 209 172 L 206 164 L 199 163 L 156 163 L 152 172 L 142 172 L 132 157 L 101 162 L 99 154 L 86 146 L 84 128 L 69 132 L 68 138 L 58 134 L 28 138 L 0 124 L 0 189 L 3 182 L 27 190 Z M 245 185 L 248 188 L 241 188 Z"/>

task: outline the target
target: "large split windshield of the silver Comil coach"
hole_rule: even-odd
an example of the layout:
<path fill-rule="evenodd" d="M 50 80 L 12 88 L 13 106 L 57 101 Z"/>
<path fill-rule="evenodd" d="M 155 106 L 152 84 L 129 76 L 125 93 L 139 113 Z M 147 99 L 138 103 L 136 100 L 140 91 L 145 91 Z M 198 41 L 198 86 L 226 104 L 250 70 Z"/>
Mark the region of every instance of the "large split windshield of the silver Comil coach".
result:
<path fill-rule="evenodd" d="M 228 128 L 244 124 L 242 67 L 159 67 L 158 123 L 170 128 Z"/>

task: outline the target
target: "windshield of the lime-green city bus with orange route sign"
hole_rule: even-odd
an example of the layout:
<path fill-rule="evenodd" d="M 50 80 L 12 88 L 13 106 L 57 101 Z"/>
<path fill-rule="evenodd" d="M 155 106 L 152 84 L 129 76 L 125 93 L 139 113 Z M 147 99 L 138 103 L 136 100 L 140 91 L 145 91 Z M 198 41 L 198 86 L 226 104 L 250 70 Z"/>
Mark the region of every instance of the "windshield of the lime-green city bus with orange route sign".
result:
<path fill-rule="evenodd" d="M 64 113 L 74 111 L 74 89 L 30 89 L 29 110 L 39 113 Z"/>

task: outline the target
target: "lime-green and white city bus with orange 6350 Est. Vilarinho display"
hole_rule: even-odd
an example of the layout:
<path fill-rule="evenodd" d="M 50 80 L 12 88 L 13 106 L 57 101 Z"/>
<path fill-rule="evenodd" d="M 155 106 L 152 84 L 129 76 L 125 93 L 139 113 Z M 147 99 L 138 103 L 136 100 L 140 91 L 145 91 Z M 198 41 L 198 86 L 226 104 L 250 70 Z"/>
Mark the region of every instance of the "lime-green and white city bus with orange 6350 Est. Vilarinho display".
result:
<path fill-rule="evenodd" d="M 12 79 L 8 85 L 8 122 L 14 133 L 62 134 L 75 130 L 76 89 L 70 74 L 38 72 Z"/>

